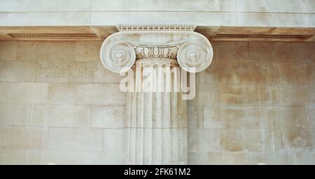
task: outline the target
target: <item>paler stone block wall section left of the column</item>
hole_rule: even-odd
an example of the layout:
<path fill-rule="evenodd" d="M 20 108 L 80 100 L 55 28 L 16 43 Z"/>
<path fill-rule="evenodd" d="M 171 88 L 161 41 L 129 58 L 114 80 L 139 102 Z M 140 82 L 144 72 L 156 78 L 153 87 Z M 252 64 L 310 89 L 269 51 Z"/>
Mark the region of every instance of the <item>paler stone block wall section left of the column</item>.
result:
<path fill-rule="evenodd" d="M 125 94 L 97 42 L 1 42 L 0 164 L 124 164 Z"/>

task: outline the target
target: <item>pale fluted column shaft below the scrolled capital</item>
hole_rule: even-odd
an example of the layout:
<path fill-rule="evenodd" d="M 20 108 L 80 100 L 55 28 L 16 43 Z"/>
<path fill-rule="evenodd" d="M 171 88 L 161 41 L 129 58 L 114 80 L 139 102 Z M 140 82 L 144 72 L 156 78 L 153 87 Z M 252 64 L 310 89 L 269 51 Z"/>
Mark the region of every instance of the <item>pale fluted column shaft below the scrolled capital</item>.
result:
<path fill-rule="evenodd" d="M 137 69 L 140 74 L 143 74 L 144 69 L 152 67 L 156 77 L 159 76 L 159 69 L 164 71 L 179 67 L 176 61 L 163 58 L 140 60 L 143 60 L 137 65 L 137 68 L 141 67 Z M 135 69 L 134 74 L 137 74 Z M 153 81 L 155 88 L 176 85 L 176 75 L 179 74 L 173 74 L 173 80 L 164 80 L 163 84 L 156 79 Z M 140 78 L 145 85 L 146 76 L 141 75 Z M 182 100 L 180 91 L 127 93 L 127 163 L 187 164 L 186 115 L 186 100 Z"/>

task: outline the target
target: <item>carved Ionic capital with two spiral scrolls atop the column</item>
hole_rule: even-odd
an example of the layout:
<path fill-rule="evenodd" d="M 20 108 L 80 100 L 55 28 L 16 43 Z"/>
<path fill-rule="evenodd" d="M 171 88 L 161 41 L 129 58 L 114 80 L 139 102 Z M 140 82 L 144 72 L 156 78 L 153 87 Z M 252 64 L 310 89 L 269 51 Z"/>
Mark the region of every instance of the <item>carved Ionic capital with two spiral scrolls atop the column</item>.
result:
<path fill-rule="evenodd" d="M 187 72 L 201 72 L 211 64 L 212 46 L 193 32 L 193 25 L 120 25 L 118 29 L 101 47 L 102 63 L 111 72 L 126 72 L 136 60 L 152 58 L 177 60 Z"/>

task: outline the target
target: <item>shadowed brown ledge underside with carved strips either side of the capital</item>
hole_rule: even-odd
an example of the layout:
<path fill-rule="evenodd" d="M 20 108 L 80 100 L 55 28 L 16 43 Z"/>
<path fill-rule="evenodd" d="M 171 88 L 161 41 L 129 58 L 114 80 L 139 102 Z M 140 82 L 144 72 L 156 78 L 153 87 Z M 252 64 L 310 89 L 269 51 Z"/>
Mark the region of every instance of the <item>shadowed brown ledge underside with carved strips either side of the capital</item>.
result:
<path fill-rule="evenodd" d="M 0 27 L 7 41 L 104 41 L 118 32 L 116 26 Z M 242 27 L 197 25 L 195 32 L 209 41 L 315 41 L 315 27 Z"/>

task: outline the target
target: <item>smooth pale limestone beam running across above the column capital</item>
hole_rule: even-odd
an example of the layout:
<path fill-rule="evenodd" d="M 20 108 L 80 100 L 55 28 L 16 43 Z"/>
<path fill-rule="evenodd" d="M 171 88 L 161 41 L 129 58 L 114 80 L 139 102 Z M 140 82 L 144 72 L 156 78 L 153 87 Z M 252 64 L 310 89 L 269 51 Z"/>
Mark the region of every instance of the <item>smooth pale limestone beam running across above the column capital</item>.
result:
<path fill-rule="evenodd" d="M 314 27 L 312 0 L 1 0 L 1 26 L 197 24 Z"/>

